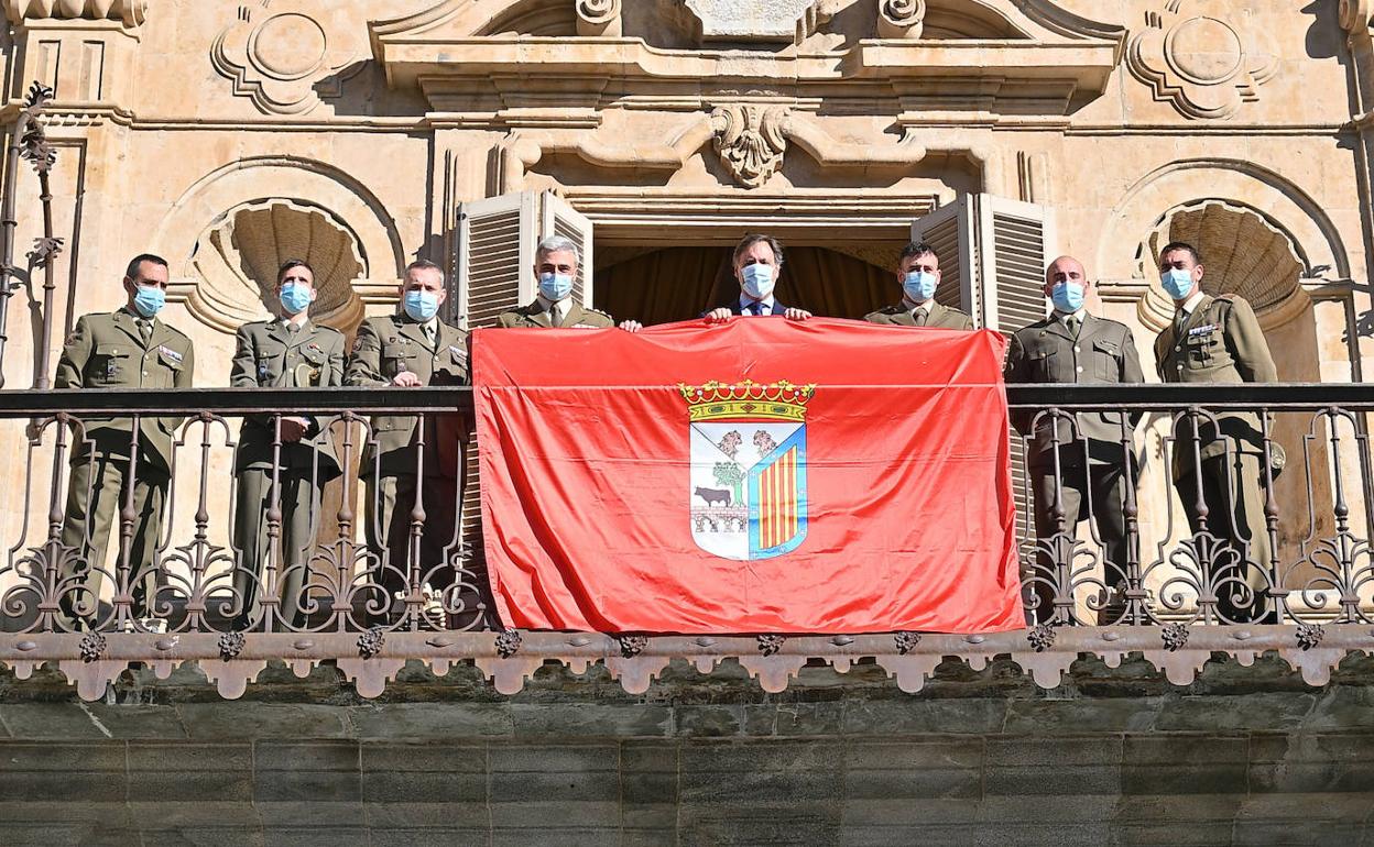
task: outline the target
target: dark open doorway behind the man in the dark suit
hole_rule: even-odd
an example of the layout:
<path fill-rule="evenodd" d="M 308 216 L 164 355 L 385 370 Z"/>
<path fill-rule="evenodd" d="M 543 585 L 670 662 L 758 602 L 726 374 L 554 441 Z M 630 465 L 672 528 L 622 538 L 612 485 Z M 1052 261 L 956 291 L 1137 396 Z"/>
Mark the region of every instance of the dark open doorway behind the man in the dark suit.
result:
<path fill-rule="evenodd" d="M 901 299 L 900 251 L 900 243 L 866 246 L 860 258 L 833 246 L 785 244 L 776 298 L 824 317 L 861 318 Z M 728 246 L 598 244 L 594 305 L 644 325 L 694 318 L 739 297 L 731 253 Z"/>

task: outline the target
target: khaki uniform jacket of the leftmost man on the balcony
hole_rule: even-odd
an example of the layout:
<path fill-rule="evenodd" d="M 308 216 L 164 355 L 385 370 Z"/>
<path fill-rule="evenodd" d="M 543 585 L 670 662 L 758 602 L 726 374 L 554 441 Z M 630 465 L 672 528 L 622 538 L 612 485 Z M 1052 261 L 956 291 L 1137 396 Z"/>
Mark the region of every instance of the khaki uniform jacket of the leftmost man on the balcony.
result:
<path fill-rule="evenodd" d="M 85 314 L 62 347 L 54 386 L 58 388 L 190 388 L 195 372 L 191 339 L 158 318 L 147 340 L 128 309 Z M 146 416 L 139 420 L 143 457 L 172 467 L 172 437 L 181 417 Z M 132 417 L 88 417 L 87 438 L 96 448 L 128 454 Z M 80 445 L 73 459 L 82 453 Z"/>

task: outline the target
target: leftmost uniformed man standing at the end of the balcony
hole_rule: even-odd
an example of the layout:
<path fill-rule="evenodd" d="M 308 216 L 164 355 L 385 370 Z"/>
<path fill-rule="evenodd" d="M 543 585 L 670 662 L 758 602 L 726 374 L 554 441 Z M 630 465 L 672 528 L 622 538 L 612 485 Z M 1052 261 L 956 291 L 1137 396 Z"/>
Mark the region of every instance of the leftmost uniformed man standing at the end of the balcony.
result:
<path fill-rule="evenodd" d="M 190 388 L 195 371 L 191 339 L 158 320 L 166 302 L 168 264 L 143 254 L 124 275 L 128 298 L 117 312 L 85 314 L 62 349 L 58 388 Z M 172 442 L 180 417 L 143 416 L 137 434 L 131 417 L 87 417 L 84 439 L 71 450 L 62 545 L 67 556 L 60 572 L 67 586 L 60 605 L 67 625 L 89 629 L 99 622 L 106 544 L 129 489 L 133 494 L 133 535 L 111 566 L 129 567 L 133 616 L 150 614 L 157 590 L 157 549 L 162 509 L 172 480 Z M 132 463 L 132 448 L 137 459 Z M 131 478 L 132 471 L 132 478 Z M 161 630 L 161 620 L 144 620 Z"/>

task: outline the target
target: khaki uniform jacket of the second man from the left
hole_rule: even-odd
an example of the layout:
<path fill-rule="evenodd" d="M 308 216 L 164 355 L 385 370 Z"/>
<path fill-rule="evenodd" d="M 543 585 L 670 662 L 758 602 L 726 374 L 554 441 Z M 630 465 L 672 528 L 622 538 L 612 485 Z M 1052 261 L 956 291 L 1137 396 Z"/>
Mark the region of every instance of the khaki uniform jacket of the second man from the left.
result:
<path fill-rule="evenodd" d="M 229 384 L 235 388 L 313 388 L 344 384 L 344 334 L 306 321 L 291 332 L 282 321 L 257 321 L 239 327 L 235 338 Z M 301 441 L 282 445 L 282 464 L 311 468 L 319 453 L 320 472 L 338 472 L 338 456 L 330 438 L 331 417 L 308 417 Z M 243 419 L 235 467 L 271 468 L 273 423 L 269 415 Z"/>

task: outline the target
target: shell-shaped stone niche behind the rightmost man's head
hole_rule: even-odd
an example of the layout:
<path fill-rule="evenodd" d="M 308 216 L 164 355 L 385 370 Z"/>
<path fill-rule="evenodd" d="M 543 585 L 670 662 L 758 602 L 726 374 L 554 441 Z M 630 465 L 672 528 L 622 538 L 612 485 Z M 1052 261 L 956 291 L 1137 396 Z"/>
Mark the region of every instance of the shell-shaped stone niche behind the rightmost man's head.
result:
<path fill-rule="evenodd" d="M 1176 210 L 1150 235 L 1147 255 L 1169 242 L 1187 242 L 1202 253 L 1204 288 L 1238 294 L 1256 312 L 1278 308 L 1297 291 L 1303 262 L 1293 240 L 1249 209 L 1205 200 Z"/>

